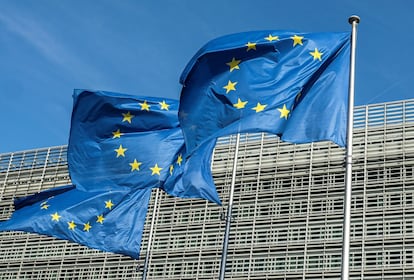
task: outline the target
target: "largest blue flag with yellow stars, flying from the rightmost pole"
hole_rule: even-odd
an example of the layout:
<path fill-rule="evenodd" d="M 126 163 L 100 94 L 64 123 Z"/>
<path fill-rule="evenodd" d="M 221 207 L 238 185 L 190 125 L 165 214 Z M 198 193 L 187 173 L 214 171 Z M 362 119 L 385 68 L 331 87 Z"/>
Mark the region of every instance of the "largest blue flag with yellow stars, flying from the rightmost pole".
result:
<path fill-rule="evenodd" d="M 348 32 L 254 31 L 210 41 L 180 78 L 188 151 L 241 132 L 345 146 L 349 60 Z"/>

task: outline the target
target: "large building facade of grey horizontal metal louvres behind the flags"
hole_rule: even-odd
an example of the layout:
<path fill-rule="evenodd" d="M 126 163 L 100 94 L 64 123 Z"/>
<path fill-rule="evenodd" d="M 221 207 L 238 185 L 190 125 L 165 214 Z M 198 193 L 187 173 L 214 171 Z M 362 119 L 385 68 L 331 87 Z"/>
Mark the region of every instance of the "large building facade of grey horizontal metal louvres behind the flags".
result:
<path fill-rule="evenodd" d="M 414 100 L 354 111 L 350 279 L 414 279 Z M 218 279 L 235 137 L 216 146 L 223 206 L 162 194 L 140 260 L 47 236 L 0 233 L 0 279 Z M 340 279 L 344 149 L 243 134 L 226 279 Z M 0 155 L 0 219 L 14 197 L 70 183 L 66 146 Z"/>

